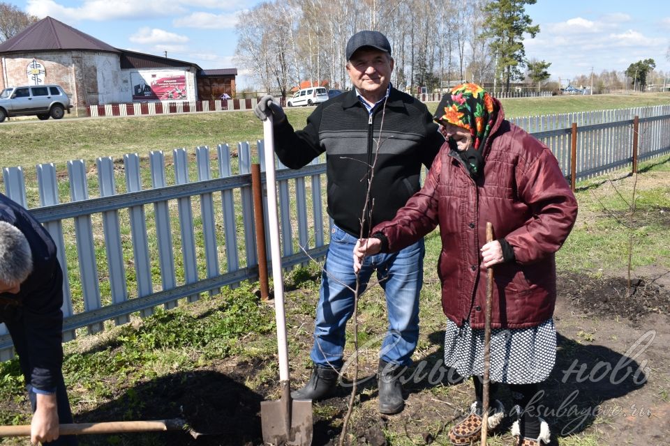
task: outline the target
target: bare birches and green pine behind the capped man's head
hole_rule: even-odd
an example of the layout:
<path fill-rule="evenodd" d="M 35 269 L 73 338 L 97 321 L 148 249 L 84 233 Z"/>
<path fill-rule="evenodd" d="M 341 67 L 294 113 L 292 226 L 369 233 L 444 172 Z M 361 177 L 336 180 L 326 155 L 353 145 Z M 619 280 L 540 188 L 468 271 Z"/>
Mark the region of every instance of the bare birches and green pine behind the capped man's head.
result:
<path fill-rule="evenodd" d="M 376 29 L 391 42 L 399 89 L 500 79 L 500 89 L 509 90 L 526 76 L 523 33 L 539 32 L 524 11 L 535 1 L 266 1 L 239 18 L 237 62 L 265 91 L 286 95 L 302 81 L 324 79 L 342 89 L 348 38 Z M 551 64 L 537 63 L 533 79 L 542 82 Z"/>

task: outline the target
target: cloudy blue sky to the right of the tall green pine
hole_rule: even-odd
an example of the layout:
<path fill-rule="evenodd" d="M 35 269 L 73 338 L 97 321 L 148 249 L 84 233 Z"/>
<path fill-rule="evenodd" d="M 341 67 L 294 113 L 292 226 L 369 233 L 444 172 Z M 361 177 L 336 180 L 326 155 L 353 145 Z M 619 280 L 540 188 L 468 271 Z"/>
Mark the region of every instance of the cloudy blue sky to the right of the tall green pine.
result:
<path fill-rule="evenodd" d="M 665 6 L 663 6 L 665 5 Z M 538 0 L 526 13 L 540 32 L 524 42 L 528 59 L 551 62 L 551 78 L 623 71 L 654 59 L 670 77 L 670 7 L 662 0 Z M 565 82 L 563 82 L 565 84 Z"/>

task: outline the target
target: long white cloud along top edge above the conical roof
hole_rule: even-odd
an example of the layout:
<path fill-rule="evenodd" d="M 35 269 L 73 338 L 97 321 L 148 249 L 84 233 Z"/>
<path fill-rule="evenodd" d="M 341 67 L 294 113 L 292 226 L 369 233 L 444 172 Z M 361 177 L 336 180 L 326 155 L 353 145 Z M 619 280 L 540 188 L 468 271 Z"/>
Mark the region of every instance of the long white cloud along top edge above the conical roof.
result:
<path fill-rule="evenodd" d="M 26 12 L 43 18 L 47 15 L 66 23 L 82 20 L 145 20 L 147 17 L 169 17 L 186 12 L 179 3 L 159 0 L 84 0 L 81 6 L 71 8 L 54 0 L 28 0 Z"/>

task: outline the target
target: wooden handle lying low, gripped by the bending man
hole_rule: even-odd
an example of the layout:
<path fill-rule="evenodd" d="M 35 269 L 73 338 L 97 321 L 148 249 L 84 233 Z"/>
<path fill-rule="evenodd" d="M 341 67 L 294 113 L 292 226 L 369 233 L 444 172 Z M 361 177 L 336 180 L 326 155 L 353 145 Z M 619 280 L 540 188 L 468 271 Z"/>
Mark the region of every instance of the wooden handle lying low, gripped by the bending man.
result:
<path fill-rule="evenodd" d="M 121 433 L 121 432 L 157 432 L 184 429 L 186 422 L 179 418 L 174 420 L 151 421 L 113 421 L 101 423 L 72 423 L 59 426 L 60 435 L 82 435 L 86 433 Z M 30 424 L 20 426 L 0 426 L 0 437 L 30 436 Z"/>

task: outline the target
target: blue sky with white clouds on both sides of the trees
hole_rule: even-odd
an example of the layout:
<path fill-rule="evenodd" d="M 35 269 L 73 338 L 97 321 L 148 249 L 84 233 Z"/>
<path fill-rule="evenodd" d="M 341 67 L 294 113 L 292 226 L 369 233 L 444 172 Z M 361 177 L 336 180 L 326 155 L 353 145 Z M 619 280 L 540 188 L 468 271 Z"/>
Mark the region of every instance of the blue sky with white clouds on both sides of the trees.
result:
<path fill-rule="evenodd" d="M 47 15 L 114 47 L 238 68 L 233 60 L 238 14 L 259 0 L 5 0 L 40 18 Z M 353 1 L 353 0 L 352 0 Z M 666 6 L 663 6 L 666 4 Z M 526 6 L 540 33 L 526 56 L 551 62 L 552 79 L 625 70 L 654 59 L 670 72 L 670 8 L 661 0 L 538 0 Z M 565 83 L 565 82 L 564 82 Z"/>

